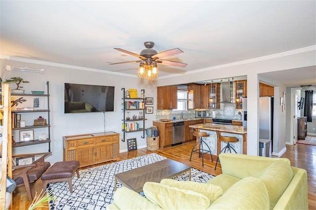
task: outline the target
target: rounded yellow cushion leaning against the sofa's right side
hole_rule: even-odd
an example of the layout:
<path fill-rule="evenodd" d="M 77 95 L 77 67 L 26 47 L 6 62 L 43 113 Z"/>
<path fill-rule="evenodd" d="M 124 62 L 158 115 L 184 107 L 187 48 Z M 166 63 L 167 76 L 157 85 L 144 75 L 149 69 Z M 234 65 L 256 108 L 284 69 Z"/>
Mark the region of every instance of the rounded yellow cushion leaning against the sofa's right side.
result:
<path fill-rule="evenodd" d="M 273 209 L 287 185 L 292 180 L 293 171 L 286 162 L 275 161 L 259 178 L 266 185 L 270 198 L 270 209 Z"/>

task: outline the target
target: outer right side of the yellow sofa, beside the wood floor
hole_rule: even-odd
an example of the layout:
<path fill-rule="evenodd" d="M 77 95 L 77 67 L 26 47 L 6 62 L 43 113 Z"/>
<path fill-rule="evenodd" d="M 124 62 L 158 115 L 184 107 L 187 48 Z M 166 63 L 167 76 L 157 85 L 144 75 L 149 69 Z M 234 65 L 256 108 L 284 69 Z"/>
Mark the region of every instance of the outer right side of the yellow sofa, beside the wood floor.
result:
<path fill-rule="evenodd" d="M 274 207 L 275 210 L 308 210 L 307 172 L 291 167 L 294 176 Z"/>

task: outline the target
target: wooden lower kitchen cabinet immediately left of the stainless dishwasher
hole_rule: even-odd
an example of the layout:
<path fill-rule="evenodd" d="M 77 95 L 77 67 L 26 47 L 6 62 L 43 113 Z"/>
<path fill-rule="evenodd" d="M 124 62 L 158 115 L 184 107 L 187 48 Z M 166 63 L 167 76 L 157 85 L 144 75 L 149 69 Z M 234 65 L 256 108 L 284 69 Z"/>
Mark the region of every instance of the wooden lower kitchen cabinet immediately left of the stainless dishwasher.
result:
<path fill-rule="evenodd" d="M 164 148 L 172 144 L 173 123 L 153 122 L 159 133 L 159 147 Z"/>

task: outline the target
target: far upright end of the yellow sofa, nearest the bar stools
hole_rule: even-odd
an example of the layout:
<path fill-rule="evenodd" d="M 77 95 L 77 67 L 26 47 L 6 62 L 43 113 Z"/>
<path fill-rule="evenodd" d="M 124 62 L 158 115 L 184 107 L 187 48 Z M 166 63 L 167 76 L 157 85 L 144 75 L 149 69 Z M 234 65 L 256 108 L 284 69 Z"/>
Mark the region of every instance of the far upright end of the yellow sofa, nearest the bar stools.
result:
<path fill-rule="evenodd" d="M 287 158 L 270 158 L 235 153 L 221 153 L 219 159 L 222 173 L 238 178 L 247 176 L 258 178 L 274 161 L 285 161 L 289 166 L 291 165 Z"/>

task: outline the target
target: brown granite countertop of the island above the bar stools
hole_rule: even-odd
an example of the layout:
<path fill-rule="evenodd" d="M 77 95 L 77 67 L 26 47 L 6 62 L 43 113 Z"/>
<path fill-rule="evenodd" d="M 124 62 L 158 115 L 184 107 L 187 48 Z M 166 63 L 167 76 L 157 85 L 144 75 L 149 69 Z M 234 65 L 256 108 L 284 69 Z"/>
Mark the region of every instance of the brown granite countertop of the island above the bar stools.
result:
<path fill-rule="evenodd" d="M 203 130 L 210 130 L 210 131 L 221 131 L 221 132 L 229 132 L 234 134 L 246 134 L 247 127 L 244 126 L 237 126 L 237 125 L 222 125 L 222 124 L 197 124 L 197 125 L 190 125 L 190 128 L 197 128 Z"/>

